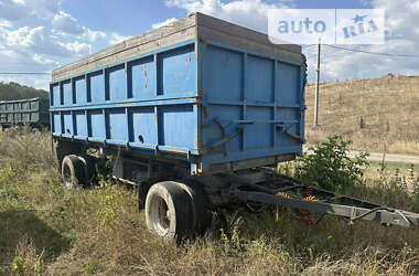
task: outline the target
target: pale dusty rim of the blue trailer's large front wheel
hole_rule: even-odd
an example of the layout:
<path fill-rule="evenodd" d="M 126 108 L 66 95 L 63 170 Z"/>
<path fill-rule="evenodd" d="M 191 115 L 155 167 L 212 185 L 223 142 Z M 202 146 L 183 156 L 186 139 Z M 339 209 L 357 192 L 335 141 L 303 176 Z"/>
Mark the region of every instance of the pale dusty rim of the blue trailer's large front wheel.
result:
<path fill-rule="evenodd" d="M 160 235 L 165 236 L 170 231 L 170 210 L 160 197 L 155 197 L 151 202 L 151 223 L 153 230 Z"/>

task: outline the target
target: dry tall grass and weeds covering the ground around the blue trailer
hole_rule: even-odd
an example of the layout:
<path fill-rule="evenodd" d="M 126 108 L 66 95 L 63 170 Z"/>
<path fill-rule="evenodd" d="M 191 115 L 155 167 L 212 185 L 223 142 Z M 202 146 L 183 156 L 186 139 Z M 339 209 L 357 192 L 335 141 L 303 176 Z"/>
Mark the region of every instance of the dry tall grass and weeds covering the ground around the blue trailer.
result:
<path fill-rule="evenodd" d="M 0 274 L 3 275 L 415 275 L 419 232 L 326 216 L 314 229 L 283 210 L 218 210 L 206 236 L 178 246 L 147 231 L 135 191 L 67 190 L 47 134 L 0 134 Z M 25 137 L 24 137 L 25 136 Z M 13 138 L 14 137 L 14 138 Z M 26 141 L 36 141 L 26 147 Z M 15 153 L 13 153 L 15 152 Z M 18 153 L 19 152 L 19 153 Z M 28 162 L 30 160 L 30 162 Z M 23 166 L 25 164 L 25 166 Z M 380 179 L 383 174 L 383 179 Z M 383 188 L 383 181 L 386 185 Z M 370 169 L 350 194 L 417 209 L 391 173 Z"/>

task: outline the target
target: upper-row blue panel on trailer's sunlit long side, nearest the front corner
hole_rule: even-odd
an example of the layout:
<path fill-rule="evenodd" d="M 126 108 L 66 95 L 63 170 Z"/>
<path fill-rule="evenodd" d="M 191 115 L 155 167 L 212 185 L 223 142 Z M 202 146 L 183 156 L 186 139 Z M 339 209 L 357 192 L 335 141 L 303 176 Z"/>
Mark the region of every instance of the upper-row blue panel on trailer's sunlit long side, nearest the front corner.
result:
<path fill-rule="evenodd" d="M 196 91 L 194 52 L 194 45 L 191 44 L 159 54 L 159 95 L 185 95 Z"/>

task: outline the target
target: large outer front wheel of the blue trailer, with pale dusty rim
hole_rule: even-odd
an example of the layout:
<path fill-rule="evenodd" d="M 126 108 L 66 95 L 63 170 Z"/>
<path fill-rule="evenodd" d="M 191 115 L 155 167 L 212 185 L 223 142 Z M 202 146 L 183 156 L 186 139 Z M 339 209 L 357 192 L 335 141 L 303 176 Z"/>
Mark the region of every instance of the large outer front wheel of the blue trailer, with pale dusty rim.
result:
<path fill-rule="evenodd" d="M 193 210 L 189 194 L 176 182 L 153 184 L 146 199 L 148 229 L 166 240 L 182 241 L 193 231 Z"/>

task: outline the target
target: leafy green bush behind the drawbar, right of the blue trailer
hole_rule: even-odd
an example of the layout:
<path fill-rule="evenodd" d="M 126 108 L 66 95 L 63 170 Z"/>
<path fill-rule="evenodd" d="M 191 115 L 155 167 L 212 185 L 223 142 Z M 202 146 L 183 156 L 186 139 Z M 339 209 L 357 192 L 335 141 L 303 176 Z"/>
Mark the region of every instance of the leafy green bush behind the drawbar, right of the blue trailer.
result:
<path fill-rule="evenodd" d="M 326 190 L 343 193 L 362 181 L 368 166 L 368 153 L 361 152 L 353 158 L 347 156 L 351 140 L 342 136 L 331 136 L 326 142 L 310 148 L 298 163 L 299 179 Z"/>

